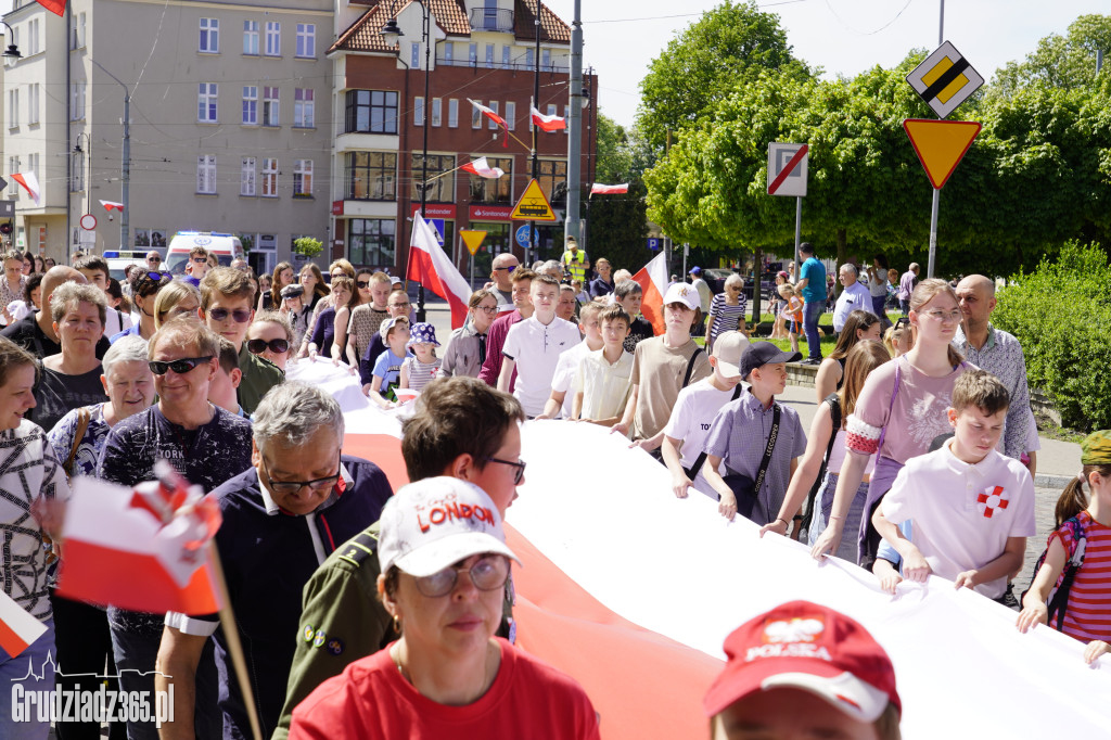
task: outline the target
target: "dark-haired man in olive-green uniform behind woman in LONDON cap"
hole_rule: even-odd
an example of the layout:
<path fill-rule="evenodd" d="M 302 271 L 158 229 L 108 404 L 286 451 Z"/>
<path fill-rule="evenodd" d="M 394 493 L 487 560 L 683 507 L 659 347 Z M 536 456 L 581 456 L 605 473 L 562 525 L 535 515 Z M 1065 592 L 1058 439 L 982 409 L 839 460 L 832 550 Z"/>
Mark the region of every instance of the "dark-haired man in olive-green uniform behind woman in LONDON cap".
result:
<path fill-rule="evenodd" d="M 524 482 L 522 421 L 517 399 L 476 378 L 433 380 L 402 426 L 401 456 L 409 480 L 450 476 L 469 481 L 504 518 Z M 304 587 L 297 653 L 273 740 L 286 740 L 293 708 L 322 681 L 397 639 L 378 599 L 378 533 L 374 522 L 337 549 Z M 506 587 L 502 613 L 498 634 L 512 640 L 512 581 Z"/>

